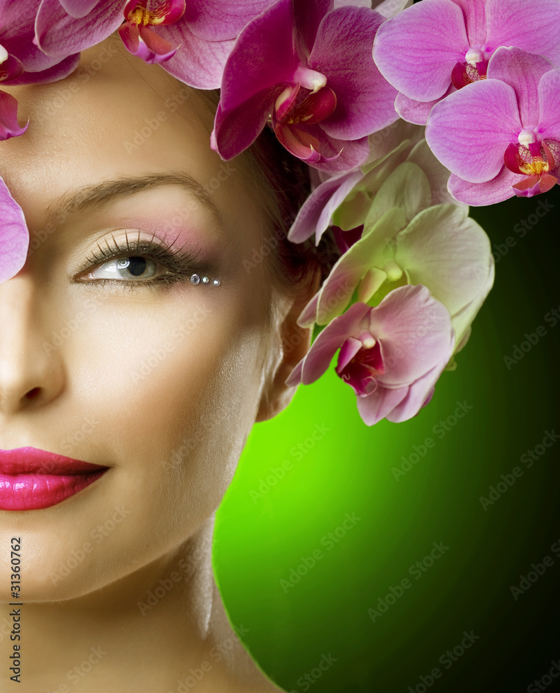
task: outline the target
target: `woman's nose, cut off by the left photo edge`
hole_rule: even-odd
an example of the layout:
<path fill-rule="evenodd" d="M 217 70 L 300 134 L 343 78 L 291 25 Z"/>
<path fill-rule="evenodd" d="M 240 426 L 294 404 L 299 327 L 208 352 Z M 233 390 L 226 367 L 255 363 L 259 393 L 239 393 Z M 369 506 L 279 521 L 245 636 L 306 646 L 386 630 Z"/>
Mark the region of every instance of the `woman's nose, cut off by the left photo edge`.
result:
<path fill-rule="evenodd" d="M 37 287 L 20 272 L 0 283 L 0 415 L 44 405 L 62 391 L 60 353 L 45 344 Z"/>

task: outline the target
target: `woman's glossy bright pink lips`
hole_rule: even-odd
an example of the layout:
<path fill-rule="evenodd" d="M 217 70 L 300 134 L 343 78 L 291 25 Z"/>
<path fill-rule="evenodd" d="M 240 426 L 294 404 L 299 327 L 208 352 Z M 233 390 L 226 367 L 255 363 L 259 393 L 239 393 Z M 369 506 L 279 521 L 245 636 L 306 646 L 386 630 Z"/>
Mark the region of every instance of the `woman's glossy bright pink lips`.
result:
<path fill-rule="evenodd" d="M 0 510 L 40 510 L 66 500 L 108 467 L 37 448 L 0 450 Z"/>

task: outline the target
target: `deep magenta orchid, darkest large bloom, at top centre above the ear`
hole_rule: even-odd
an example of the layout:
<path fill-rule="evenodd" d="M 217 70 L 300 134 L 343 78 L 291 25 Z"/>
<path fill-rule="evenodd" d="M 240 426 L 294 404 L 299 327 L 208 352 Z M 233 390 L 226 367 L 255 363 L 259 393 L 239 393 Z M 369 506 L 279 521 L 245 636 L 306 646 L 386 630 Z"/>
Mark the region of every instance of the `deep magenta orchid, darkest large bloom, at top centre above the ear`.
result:
<path fill-rule="evenodd" d="M 367 159 L 367 136 L 396 120 L 396 90 L 371 58 L 385 17 L 332 7 L 332 0 L 277 0 L 240 33 L 212 133 L 222 159 L 245 150 L 270 122 L 299 159 L 348 171 Z"/>

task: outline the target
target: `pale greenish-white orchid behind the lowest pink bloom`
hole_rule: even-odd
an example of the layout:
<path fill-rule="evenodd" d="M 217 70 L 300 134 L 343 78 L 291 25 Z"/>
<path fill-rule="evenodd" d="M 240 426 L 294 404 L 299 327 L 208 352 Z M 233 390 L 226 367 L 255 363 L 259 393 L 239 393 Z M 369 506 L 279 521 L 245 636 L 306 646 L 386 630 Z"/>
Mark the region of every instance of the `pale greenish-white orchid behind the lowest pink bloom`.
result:
<path fill-rule="evenodd" d="M 430 177 L 412 161 L 400 164 L 376 193 L 361 238 L 335 263 L 298 323 L 327 324 L 355 291 L 358 301 L 375 305 L 397 286 L 421 284 L 446 306 L 464 346 L 493 284 L 490 241 L 468 207 L 431 202 Z"/>

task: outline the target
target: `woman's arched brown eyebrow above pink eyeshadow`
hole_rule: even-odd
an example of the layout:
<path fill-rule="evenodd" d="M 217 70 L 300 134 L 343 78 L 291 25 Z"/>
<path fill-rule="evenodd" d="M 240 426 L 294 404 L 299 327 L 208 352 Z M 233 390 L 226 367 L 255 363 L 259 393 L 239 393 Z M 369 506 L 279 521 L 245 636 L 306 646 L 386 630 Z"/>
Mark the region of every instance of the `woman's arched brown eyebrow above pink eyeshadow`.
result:
<path fill-rule="evenodd" d="M 117 198 L 134 195 L 146 188 L 155 188 L 163 185 L 178 185 L 194 195 L 204 207 L 216 217 L 220 225 L 222 215 L 216 204 L 211 199 L 207 190 L 193 177 L 182 171 L 170 171 L 168 173 L 146 173 L 141 176 L 125 176 L 100 183 L 78 188 L 74 192 L 64 193 L 53 209 L 49 212 L 46 224 L 53 224 L 66 219 L 71 214 L 95 211 L 102 209 Z M 50 206 L 49 206 L 50 209 Z"/>

